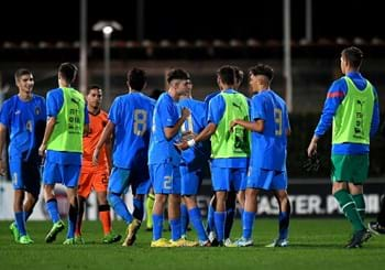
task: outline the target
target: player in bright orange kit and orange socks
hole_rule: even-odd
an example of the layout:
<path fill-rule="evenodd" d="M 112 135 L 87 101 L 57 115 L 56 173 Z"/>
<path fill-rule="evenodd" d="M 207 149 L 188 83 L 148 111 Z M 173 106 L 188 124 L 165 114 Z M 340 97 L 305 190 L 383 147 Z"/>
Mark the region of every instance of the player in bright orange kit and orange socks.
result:
<path fill-rule="evenodd" d="M 111 244 L 119 241 L 121 236 L 116 235 L 111 229 L 110 205 L 107 202 L 108 175 L 111 168 L 111 143 L 105 144 L 100 151 L 97 166 L 92 165 L 92 154 L 99 141 L 101 132 L 107 125 L 108 115 L 101 109 L 102 90 L 99 86 L 91 86 L 87 89 L 87 110 L 89 117 L 89 132 L 82 139 L 82 163 L 78 184 L 79 216 L 76 224 L 75 241 L 84 244 L 81 237 L 82 215 L 85 213 L 86 201 L 95 190 L 97 193 L 99 219 L 101 222 L 105 237 L 102 242 Z"/>

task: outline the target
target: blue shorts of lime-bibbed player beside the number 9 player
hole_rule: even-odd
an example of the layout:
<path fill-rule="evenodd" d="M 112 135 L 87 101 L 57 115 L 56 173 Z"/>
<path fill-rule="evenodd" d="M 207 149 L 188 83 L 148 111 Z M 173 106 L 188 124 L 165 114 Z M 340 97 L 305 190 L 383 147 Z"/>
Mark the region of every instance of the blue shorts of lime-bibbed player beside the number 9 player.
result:
<path fill-rule="evenodd" d="M 246 188 L 248 170 L 245 168 L 211 166 L 213 191 L 244 191 Z"/>

